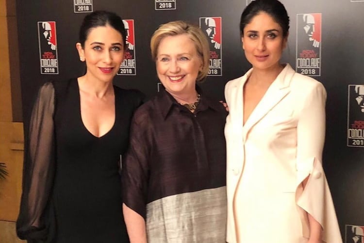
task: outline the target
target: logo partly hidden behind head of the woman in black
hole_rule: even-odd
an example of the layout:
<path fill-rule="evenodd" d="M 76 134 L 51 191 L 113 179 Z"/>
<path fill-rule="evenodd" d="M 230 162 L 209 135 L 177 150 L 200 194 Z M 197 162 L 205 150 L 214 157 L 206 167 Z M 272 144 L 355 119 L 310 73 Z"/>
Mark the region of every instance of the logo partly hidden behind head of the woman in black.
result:
<path fill-rule="evenodd" d="M 123 20 L 123 23 L 126 30 L 126 49 L 124 61 L 121 63 L 117 74 L 136 75 L 134 19 L 125 19 Z"/>

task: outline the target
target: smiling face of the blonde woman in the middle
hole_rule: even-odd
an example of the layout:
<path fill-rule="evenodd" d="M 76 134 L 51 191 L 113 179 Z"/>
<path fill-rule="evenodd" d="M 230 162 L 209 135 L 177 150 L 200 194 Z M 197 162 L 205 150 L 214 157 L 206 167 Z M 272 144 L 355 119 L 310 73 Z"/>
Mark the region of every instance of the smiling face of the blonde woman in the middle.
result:
<path fill-rule="evenodd" d="M 159 80 L 172 95 L 196 93 L 196 78 L 202 69 L 202 60 L 188 35 L 166 36 L 161 40 L 156 68 Z"/>

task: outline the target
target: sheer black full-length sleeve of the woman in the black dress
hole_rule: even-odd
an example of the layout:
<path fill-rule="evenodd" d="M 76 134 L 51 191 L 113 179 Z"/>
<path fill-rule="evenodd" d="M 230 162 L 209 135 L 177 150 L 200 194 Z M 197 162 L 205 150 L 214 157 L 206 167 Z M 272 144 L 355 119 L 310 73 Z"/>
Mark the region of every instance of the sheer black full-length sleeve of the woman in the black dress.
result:
<path fill-rule="evenodd" d="M 25 144 L 23 185 L 17 235 L 28 242 L 48 237 L 45 208 L 50 200 L 55 171 L 54 87 L 46 83 L 38 92 Z"/>

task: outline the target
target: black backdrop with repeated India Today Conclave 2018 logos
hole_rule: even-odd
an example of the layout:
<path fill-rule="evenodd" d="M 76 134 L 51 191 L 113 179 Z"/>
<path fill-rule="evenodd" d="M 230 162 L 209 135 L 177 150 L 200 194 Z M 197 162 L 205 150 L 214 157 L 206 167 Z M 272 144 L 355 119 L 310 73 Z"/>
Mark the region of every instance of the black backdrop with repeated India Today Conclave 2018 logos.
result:
<path fill-rule="evenodd" d="M 364 0 L 281 0 L 291 19 L 282 62 L 312 76 L 328 92 L 324 169 L 344 242 L 364 243 Z M 210 40 L 204 91 L 223 100 L 227 81 L 249 68 L 239 34 L 250 0 L 17 1 L 20 76 L 25 129 L 38 87 L 81 76 L 75 44 L 83 17 L 109 10 L 124 19 L 128 49 L 116 85 L 148 96 L 160 84 L 149 40 L 168 21 L 199 25 Z M 264 138 L 262 138 L 264 139 Z"/>

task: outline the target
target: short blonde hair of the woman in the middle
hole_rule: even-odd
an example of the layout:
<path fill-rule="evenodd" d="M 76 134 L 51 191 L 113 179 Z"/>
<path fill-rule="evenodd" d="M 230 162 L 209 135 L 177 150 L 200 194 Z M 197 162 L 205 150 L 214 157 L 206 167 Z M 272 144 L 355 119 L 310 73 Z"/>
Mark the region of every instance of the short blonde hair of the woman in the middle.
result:
<path fill-rule="evenodd" d="M 153 61 L 157 60 L 157 51 L 162 39 L 174 35 L 187 35 L 195 43 L 197 53 L 202 60 L 202 70 L 199 71 L 196 82 L 202 81 L 209 71 L 210 49 L 206 35 L 196 25 L 188 24 L 181 20 L 160 25 L 150 39 Z"/>

